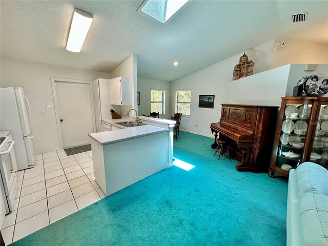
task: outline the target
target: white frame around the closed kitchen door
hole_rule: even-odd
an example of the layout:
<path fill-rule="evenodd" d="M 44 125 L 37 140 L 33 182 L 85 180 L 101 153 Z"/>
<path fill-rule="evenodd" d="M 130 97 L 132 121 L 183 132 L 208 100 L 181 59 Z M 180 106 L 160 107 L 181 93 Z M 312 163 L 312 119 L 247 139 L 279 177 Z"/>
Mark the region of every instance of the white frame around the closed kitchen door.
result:
<path fill-rule="evenodd" d="M 50 78 L 51 78 L 51 89 L 52 89 L 52 96 L 53 96 L 53 102 L 54 102 L 58 140 L 59 140 L 59 148 L 60 148 L 60 150 L 63 150 L 64 149 L 63 148 L 63 138 L 61 137 L 61 127 L 59 124 L 59 112 L 58 112 L 57 95 L 56 95 L 56 82 L 89 84 L 90 98 L 91 98 L 91 110 L 92 110 L 92 126 L 93 126 L 93 132 L 96 132 L 96 125 L 95 125 L 96 119 L 95 119 L 95 114 L 94 114 L 92 80 L 80 80 L 80 79 L 56 78 L 56 77 L 50 77 Z"/>

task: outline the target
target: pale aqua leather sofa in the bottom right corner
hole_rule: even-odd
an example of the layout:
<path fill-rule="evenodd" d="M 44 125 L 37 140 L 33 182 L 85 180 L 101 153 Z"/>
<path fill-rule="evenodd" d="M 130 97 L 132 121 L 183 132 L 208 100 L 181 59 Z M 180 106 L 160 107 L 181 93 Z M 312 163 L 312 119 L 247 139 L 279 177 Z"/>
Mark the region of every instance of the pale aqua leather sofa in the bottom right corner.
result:
<path fill-rule="evenodd" d="M 328 171 L 313 162 L 291 169 L 287 246 L 328 245 Z"/>

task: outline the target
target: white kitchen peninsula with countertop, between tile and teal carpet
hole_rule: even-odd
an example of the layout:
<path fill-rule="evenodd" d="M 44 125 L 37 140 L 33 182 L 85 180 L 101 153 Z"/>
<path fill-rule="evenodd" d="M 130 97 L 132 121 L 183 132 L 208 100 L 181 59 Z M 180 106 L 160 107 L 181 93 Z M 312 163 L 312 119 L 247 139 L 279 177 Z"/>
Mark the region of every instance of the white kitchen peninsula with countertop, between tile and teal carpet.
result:
<path fill-rule="evenodd" d="M 170 166 L 171 135 L 152 125 L 89 134 L 94 176 L 106 196 Z"/>

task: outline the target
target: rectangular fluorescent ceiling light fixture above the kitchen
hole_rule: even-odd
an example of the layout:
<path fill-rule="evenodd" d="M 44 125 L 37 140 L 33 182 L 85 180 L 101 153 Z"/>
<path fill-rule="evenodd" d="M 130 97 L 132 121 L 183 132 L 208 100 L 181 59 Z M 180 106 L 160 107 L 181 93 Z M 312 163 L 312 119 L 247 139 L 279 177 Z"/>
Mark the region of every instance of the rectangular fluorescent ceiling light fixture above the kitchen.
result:
<path fill-rule="evenodd" d="M 74 9 L 66 49 L 80 52 L 93 20 L 93 15 L 80 9 Z"/>

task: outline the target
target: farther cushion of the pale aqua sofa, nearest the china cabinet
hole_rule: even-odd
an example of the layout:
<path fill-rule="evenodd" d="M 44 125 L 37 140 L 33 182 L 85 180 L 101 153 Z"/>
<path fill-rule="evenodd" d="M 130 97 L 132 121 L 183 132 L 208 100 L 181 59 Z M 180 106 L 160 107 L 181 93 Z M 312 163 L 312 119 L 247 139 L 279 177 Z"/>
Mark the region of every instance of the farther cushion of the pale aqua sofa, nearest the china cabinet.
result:
<path fill-rule="evenodd" d="M 328 171 L 313 162 L 303 162 L 296 168 L 299 197 L 309 191 L 328 196 Z"/>

